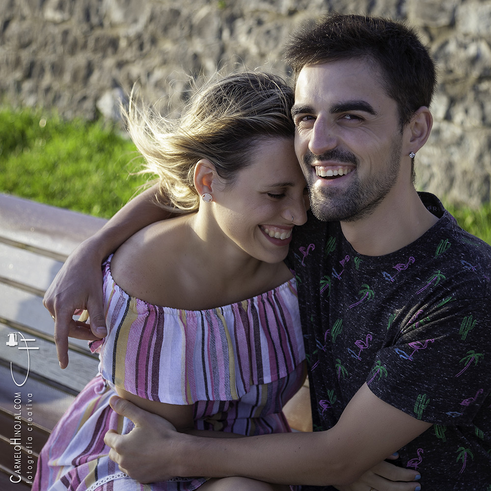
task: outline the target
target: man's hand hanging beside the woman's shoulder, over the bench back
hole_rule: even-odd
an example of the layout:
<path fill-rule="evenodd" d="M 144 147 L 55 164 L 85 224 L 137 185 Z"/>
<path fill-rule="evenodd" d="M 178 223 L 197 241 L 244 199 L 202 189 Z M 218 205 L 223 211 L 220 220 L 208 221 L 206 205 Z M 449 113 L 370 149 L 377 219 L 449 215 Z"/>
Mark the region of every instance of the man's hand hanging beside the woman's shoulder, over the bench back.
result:
<path fill-rule="evenodd" d="M 101 257 L 85 241 L 68 257 L 44 296 L 43 304 L 55 319 L 56 354 L 61 368 L 68 365 L 68 336 L 95 340 L 107 334 L 103 310 Z M 90 326 L 75 321 L 77 310 L 88 310 Z"/>

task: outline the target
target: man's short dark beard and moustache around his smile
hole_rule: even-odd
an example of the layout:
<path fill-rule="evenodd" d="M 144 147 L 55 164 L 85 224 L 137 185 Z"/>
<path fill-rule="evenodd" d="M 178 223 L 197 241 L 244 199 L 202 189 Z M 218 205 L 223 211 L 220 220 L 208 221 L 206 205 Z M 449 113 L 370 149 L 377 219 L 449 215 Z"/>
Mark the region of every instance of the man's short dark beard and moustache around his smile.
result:
<path fill-rule="evenodd" d="M 394 187 L 400 169 L 402 137 L 397 138 L 391 145 L 390 162 L 380 170 L 383 174 L 370 175 L 361 181 L 355 173 L 359 161 L 354 154 L 344 150 L 333 149 L 320 156 L 314 156 L 310 151 L 303 157 L 304 168 L 310 170 L 310 163 L 334 161 L 340 164 L 354 164 L 355 170 L 350 185 L 344 190 L 329 186 L 316 186 L 316 176 L 308 172 L 306 176 L 310 207 L 316 218 L 322 221 L 356 221 L 366 218 L 377 208 Z M 355 173 L 355 174 L 354 174 Z M 319 179 L 319 178 L 317 178 Z M 323 179 L 322 177 L 320 179 Z"/>

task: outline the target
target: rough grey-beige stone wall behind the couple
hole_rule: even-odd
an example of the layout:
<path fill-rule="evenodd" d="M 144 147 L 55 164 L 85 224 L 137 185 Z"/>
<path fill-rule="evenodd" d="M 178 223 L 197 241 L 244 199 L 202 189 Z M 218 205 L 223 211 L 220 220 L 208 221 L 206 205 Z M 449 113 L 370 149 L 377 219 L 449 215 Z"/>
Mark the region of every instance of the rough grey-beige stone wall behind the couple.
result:
<path fill-rule="evenodd" d="M 491 0 L 0 0 L 0 95 L 67 117 L 114 118 L 134 82 L 177 108 L 189 76 L 245 63 L 288 73 L 283 40 L 326 9 L 418 27 L 439 64 L 418 187 L 490 201 Z"/>

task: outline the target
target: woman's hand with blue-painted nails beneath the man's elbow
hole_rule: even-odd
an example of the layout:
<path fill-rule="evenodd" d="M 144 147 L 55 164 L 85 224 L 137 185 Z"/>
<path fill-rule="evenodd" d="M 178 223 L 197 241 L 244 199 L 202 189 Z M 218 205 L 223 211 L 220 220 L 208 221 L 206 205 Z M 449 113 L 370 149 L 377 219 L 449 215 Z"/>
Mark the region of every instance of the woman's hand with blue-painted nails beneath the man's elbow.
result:
<path fill-rule="evenodd" d="M 398 457 L 398 454 L 394 454 L 388 460 Z M 417 479 L 420 476 L 416 471 L 382 461 L 366 471 L 358 481 L 335 488 L 339 491 L 419 491 L 421 487 Z"/>

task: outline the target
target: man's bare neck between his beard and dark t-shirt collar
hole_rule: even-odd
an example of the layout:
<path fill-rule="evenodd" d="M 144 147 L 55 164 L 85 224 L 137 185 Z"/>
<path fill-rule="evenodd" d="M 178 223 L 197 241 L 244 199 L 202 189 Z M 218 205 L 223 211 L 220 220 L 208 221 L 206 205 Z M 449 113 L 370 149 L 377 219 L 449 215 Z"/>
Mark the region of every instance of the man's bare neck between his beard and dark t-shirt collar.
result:
<path fill-rule="evenodd" d="M 360 254 L 383 256 L 408 246 L 438 218 L 430 213 L 414 188 L 393 190 L 368 216 L 341 222 L 348 242 Z"/>

